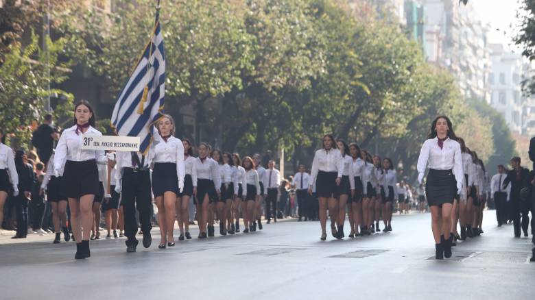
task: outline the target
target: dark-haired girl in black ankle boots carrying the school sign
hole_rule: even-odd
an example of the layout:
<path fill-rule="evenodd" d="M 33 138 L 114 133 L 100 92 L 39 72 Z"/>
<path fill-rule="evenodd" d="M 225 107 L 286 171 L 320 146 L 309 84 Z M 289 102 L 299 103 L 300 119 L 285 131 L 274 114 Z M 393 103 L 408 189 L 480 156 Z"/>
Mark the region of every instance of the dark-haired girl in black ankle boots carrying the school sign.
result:
<path fill-rule="evenodd" d="M 82 150 L 84 136 L 102 136 L 94 128 L 95 114 L 87 101 L 74 108 L 74 125 L 64 129 L 56 147 L 53 175 L 59 177 L 64 166 L 62 192 L 69 200 L 71 227 L 76 240 L 75 259 L 91 256 L 89 236 L 93 225 L 93 199 L 99 194 L 97 164 L 108 164 L 104 151 Z"/>

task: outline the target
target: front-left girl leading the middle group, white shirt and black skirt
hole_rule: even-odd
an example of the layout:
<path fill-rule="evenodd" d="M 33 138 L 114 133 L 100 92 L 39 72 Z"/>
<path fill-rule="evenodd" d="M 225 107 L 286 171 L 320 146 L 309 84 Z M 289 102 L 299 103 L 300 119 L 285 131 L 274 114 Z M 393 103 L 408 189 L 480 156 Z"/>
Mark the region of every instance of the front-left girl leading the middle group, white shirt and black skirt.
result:
<path fill-rule="evenodd" d="M 327 223 L 328 202 L 331 223 L 335 222 L 335 214 L 333 214 L 333 210 L 337 204 L 335 197 L 337 197 L 337 188 L 340 186 L 340 182 L 342 182 L 344 162 L 342 161 L 342 153 L 336 147 L 334 137 L 331 134 L 326 134 L 322 138 L 322 149 L 316 151 L 312 162 L 309 194 L 312 195 L 312 188 L 316 184 L 316 194 L 320 203 L 320 225 L 322 229 L 320 240 L 326 240 L 327 238 L 325 227 Z M 331 226 L 331 230 L 333 236 L 336 237 L 337 232 L 334 226 Z"/>

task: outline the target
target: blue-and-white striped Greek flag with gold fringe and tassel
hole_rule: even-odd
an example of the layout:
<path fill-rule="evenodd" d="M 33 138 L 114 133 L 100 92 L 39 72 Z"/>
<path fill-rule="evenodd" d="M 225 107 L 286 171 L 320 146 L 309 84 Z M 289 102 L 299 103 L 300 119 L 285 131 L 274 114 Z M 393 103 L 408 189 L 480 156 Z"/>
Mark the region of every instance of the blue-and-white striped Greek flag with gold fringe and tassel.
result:
<path fill-rule="evenodd" d="M 147 152 L 152 142 L 152 125 L 163 114 L 165 96 L 165 54 L 158 12 L 150 41 L 132 75 L 117 97 L 111 117 L 119 136 L 139 136 L 141 149 Z"/>

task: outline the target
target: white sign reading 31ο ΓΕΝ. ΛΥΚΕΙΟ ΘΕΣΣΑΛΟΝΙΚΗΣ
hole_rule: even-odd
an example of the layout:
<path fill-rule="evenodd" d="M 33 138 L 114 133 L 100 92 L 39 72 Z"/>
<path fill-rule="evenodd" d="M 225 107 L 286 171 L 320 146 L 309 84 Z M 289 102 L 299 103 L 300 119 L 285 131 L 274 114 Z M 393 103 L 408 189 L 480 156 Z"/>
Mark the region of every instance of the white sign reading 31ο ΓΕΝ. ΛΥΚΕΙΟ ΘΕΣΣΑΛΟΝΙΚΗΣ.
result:
<path fill-rule="evenodd" d="M 83 150 L 139 151 L 139 136 L 82 136 Z"/>

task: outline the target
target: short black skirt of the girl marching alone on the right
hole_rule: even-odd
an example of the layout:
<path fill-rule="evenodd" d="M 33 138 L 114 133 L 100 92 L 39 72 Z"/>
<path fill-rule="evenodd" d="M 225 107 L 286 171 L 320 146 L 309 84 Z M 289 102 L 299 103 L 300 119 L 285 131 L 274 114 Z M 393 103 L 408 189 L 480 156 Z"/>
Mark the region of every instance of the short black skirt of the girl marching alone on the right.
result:
<path fill-rule="evenodd" d="M 427 182 L 425 183 L 425 196 L 430 206 L 453 204 L 457 196 L 457 183 L 451 170 L 429 169 Z"/>

